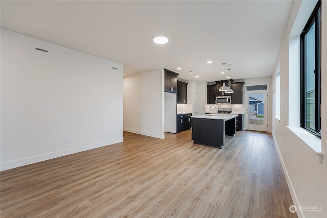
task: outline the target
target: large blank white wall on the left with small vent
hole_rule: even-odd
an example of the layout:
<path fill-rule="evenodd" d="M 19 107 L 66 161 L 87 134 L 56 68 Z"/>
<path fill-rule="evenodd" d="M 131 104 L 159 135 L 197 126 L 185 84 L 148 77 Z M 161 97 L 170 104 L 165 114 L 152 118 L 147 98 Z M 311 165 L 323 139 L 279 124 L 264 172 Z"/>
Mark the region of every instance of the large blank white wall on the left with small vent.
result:
<path fill-rule="evenodd" d="M 122 86 L 122 64 L 1 29 L 1 170 L 123 141 Z"/>

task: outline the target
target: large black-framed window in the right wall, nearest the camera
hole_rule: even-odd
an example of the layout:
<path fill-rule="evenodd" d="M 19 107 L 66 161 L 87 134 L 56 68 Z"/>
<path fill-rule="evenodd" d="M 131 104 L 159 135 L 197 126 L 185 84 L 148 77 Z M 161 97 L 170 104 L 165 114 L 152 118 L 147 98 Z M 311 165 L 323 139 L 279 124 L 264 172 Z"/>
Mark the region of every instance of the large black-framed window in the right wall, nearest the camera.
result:
<path fill-rule="evenodd" d="M 321 1 L 301 34 L 301 127 L 321 136 Z"/>

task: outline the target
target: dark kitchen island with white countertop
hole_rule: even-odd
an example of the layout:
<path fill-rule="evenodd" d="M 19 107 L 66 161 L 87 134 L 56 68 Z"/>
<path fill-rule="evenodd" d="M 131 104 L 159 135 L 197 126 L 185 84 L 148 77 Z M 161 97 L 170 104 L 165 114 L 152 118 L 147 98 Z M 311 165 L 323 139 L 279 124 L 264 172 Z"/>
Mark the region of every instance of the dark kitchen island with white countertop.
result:
<path fill-rule="evenodd" d="M 237 114 L 205 114 L 191 116 L 192 140 L 195 144 L 203 144 L 222 148 L 225 135 L 235 136 Z"/>

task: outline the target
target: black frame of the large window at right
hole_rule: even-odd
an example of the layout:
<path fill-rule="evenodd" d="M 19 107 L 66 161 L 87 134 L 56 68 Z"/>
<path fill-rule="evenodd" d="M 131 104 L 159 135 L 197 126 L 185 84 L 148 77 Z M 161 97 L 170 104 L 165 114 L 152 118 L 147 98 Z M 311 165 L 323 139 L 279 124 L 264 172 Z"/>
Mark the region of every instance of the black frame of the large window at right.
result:
<path fill-rule="evenodd" d="M 307 72 L 305 37 L 315 25 L 315 130 L 307 127 Z M 300 127 L 321 137 L 321 0 L 300 35 Z M 318 74 L 317 74 L 318 72 Z"/>

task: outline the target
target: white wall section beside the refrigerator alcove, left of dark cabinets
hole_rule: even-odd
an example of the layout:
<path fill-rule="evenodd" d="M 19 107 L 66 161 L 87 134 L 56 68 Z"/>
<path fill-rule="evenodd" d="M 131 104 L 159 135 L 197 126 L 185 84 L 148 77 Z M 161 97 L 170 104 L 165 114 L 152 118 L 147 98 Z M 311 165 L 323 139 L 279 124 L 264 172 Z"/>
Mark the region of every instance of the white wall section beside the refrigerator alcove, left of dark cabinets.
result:
<path fill-rule="evenodd" d="M 165 138 L 164 69 L 124 78 L 124 131 Z"/>

